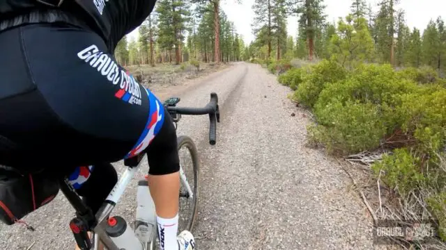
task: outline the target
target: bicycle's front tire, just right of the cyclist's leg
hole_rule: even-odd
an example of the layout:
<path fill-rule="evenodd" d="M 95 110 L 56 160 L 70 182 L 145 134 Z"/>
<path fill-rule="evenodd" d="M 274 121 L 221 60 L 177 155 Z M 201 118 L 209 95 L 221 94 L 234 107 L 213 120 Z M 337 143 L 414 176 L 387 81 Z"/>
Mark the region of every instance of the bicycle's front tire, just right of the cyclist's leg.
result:
<path fill-rule="evenodd" d="M 190 215 L 189 221 L 187 222 L 186 228 L 184 228 L 187 231 L 192 232 L 194 229 L 195 222 L 197 220 L 197 213 L 198 213 L 198 197 L 199 197 L 199 156 L 197 147 L 194 144 L 194 141 L 186 135 L 181 135 L 177 139 L 178 143 L 178 151 L 182 147 L 187 147 L 190 152 L 190 156 L 192 157 L 192 165 L 193 165 L 193 172 L 194 172 L 194 186 L 191 187 L 192 192 L 194 194 L 194 197 L 192 199 L 192 213 Z M 184 170 L 184 169 L 183 169 Z"/>

